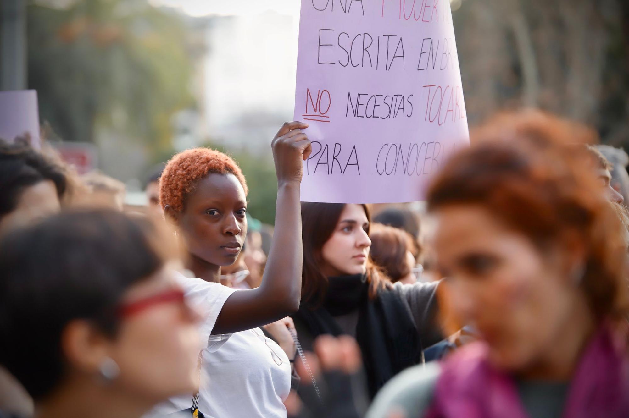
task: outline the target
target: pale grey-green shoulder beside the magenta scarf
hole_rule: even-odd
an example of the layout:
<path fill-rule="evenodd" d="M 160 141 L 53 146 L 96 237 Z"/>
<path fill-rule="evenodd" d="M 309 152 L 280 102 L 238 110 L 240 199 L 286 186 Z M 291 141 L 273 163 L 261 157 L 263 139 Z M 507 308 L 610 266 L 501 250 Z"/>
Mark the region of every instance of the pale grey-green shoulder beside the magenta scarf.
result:
<path fill-rule="evenodd" d="M 389 380 L 378 392 L 365 418 L 388 418 L 392 411 L 421 417 L 430 406 L 441 373 L 438 363 L 417 365 Z"/>

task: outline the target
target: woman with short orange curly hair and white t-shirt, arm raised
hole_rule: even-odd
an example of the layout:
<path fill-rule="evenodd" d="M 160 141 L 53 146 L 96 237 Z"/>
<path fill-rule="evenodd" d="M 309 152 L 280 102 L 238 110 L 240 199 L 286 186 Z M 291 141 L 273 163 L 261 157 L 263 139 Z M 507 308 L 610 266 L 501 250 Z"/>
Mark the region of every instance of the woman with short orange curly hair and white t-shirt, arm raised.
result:
<path fill-rule="evenodd" d="M 277 172 L 276 226 L 260 287 L 235 290 L 219 283 L 221 266 L 233 264 L 247 234 L 247 182 L 237 163 L 208 148 L 175 155 L 160 178 L 164 216 L 189 253 L 180 277 L 187 297 L 206 309 L 201 338 L 199 392 L 170 399 L 155 414 L 190 409 L 214 417 L 286 418 L 291 388 L 291 361 L 282 348 L 258 328 L 277 327 L 292 342 L 286 316 L 301 297 L 302 160 L 311 152 L 301 122 L 284 123 L 272 142 Z M 220 349 L 219 349 L 220 348 Z M 294 357 L 294 346 L 291 357 Z"/>

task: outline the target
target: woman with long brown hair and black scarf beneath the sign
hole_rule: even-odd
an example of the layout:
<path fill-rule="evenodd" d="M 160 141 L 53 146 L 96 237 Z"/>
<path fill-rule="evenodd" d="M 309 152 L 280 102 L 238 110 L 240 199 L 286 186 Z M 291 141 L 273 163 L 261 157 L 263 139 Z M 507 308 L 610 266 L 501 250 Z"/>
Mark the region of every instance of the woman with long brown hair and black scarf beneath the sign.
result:
<path fill-rule="evenodd" d="M 442 339 L 435 324 L 437 283 L 391 283 L 371 261 L 369 207 L 302 203 L 303 294 L 293 316 L 309 349 L 321 334 L 354 336 L 367 388 L 352 392 L 343 377 L 328 380 L 338 416 L 361 416 L 360 405 L 404 368 L 420 363 L 423 348 Z M 367 401 L 368 402 L 368 401 Z"/>

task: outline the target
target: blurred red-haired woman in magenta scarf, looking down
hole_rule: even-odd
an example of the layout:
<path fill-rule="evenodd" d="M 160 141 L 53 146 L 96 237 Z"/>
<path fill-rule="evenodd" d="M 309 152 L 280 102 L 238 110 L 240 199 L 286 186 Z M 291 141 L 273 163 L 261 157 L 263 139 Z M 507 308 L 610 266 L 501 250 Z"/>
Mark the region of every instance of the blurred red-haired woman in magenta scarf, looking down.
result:
<path fill-rule="evenodd" d="M 567 151 L 578 131 L 501 116 L 437 175 L 438 270 L 481 341 L 396 377 L 368 418 L 629 416 L 622 231 L 591 164 Z"/>

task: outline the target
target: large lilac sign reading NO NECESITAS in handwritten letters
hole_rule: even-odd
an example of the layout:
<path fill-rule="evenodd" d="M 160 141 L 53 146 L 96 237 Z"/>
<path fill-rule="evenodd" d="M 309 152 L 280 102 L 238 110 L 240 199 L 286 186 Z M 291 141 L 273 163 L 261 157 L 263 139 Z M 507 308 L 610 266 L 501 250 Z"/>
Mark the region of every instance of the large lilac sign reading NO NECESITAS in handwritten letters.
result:
<path fill-rule="evenodd" d="M 422 200 L 469 144 L 448 0 L 302 0 L 294 118 L 302 201 Z"/>

